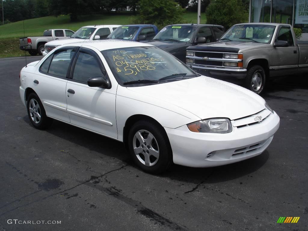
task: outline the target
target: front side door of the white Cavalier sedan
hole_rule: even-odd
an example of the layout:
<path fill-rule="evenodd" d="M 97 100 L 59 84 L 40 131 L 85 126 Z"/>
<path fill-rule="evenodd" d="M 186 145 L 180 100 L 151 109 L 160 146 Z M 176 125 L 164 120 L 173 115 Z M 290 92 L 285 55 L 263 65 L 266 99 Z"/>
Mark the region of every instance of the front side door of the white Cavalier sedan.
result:
<path fill-rule="evenodd" d="M 87 81 L 92 77 L 109 79 L 98 53 L 81 47 L 71 67 L 66 87 L 67 112 L 71 124 L 117 138 L 116 86 L 111 86 L 111 89 L 89 87 Z"/>

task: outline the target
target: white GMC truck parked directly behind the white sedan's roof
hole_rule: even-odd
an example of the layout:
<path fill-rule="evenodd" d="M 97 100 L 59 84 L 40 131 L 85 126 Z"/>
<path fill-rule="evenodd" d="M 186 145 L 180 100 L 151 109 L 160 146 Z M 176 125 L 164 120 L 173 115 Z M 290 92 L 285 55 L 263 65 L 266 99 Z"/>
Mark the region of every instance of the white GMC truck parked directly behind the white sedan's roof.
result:
<path fill-rule="evenodd" d="M 67 43 L 106 39 L 107 36 L 119 26 L 122 25 L 83 26 L 79 30 L 77 30 L 75 34 L 71 35 L 69 39 L 62 39 L 61 41 L 51 41 L 49 43 L 46 43 L 43 55 L 47 55 L 56 47 Z"/>

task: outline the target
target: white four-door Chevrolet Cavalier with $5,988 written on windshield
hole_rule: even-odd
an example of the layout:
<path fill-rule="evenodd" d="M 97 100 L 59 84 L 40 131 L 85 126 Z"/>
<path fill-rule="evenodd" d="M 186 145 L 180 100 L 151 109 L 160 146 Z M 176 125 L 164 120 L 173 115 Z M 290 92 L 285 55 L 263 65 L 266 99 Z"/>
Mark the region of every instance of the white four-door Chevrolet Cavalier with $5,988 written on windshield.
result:
<path fill-rule="evenodd" d="M 19 92 L 35 128 L 56 119 L 122 141 L 151 173 L 172 162 L 212 167 L 257 156 L 279 127 L 259 95 L 144 43 L 57 47 L 22 68 Z"/>

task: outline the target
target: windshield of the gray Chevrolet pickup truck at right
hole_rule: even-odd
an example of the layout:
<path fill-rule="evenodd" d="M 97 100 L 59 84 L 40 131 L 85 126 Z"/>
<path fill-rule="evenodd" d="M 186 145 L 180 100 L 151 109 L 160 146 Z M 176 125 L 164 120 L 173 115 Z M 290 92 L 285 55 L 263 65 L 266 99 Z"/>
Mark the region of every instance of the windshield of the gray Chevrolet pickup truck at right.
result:
<path fill-rule="evenodd" d="M 271 25 L 237 25 L 232 26 L 220 40 L 247 41 L 269 44 L 273 38 L 275 26 Z"/>

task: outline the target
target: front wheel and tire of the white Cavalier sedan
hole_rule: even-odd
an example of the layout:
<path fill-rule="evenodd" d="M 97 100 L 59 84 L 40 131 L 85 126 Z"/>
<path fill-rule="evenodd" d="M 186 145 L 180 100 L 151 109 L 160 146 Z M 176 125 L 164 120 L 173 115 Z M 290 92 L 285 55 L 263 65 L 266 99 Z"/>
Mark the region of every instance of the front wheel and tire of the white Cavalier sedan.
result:
<path fill-rule="evenodd" d="M 172 163 L 168 137 L 163 128 L 151 121 L 141 120 L 132 126 L 128 133 L 128 149 L 135 164 L 144 172 L 159 174 Z"/>

